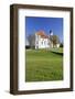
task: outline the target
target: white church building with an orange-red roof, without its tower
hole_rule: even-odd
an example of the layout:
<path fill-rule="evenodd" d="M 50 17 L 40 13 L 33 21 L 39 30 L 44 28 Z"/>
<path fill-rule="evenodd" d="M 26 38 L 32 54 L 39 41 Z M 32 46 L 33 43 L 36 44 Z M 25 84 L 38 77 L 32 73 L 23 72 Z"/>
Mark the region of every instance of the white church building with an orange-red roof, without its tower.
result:
<path fill-rule="evenodd" d="M 50 44 L 50 38 L 49 36 L 43 32 L 43 31 L 39 31 L 38 33 L 35 33 L 35 50 L 36 48 L 50 48 L 53 47 L 53 44 Z"/>

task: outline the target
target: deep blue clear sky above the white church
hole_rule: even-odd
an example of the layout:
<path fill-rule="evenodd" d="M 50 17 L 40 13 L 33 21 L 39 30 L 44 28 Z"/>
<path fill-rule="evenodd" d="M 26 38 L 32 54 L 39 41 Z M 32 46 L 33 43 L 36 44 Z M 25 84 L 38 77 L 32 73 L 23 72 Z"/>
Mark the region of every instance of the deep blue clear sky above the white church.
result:
<path fill-rule="evenodd" d="M 40 16 L 25 16 L 25 33 L 26 36 L 43 30 L 47 35 L 50 30 L 54 35 L 60 37 L 63 42 L 63 18 L 40 18 Z"/>

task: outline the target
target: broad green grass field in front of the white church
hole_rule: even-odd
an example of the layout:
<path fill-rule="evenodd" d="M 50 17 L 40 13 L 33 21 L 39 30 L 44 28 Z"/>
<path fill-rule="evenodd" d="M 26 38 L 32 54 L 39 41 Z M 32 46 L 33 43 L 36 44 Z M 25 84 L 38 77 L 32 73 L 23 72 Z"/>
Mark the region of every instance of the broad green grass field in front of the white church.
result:
<path fill-rule="evenodd" d="M 45 50 L 26 50 L 25 81 L 63 79 L 63 56 Z"/>

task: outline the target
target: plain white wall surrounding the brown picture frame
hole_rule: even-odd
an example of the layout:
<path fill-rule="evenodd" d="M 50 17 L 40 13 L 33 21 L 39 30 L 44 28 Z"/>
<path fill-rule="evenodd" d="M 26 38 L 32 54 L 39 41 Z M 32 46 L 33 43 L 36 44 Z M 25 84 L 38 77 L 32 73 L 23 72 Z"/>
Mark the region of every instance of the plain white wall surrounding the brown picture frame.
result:
<path fill-rule="evenodd" d="M 46 4 L 60 7 L 74 7 L 75 0 L 0 0 L 0 99 L 74 99 L 73 92 L 41 94 L 26 96 L 12 96 L 9 94 L 10 77 L 10 4 Z M 75 7 L 74 7 L 75 12 Z M 75 24 L 75 13 L 74 13 Z M 75 29 L 74 29 L 75 32 Z M 75 35 L 74 35 L 75 37 Z M 75 40 L 74 40 L 75 42 Z M 75 67 L 74 67 L 75 70 Z M 75 75 L 75 73 L 74 73 Z M 74 79 L 75 82 L 75 79 Z M 75 85 L 74 85 L 75 89 Z"/>

